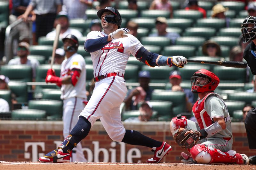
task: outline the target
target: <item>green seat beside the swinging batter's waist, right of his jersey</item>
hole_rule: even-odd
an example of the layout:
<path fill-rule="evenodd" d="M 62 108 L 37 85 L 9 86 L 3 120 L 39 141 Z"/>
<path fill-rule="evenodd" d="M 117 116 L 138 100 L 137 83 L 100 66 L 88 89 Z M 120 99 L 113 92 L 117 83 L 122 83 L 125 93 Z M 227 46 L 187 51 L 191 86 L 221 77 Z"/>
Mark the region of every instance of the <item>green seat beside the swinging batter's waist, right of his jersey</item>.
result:
<path fill-rule="evenodd" d="M 125 82 L 138 82 L 138 72 L 139 72 L 138 65 L 127 64 L 125 67 L 125 73 L 124 73 Z"/>

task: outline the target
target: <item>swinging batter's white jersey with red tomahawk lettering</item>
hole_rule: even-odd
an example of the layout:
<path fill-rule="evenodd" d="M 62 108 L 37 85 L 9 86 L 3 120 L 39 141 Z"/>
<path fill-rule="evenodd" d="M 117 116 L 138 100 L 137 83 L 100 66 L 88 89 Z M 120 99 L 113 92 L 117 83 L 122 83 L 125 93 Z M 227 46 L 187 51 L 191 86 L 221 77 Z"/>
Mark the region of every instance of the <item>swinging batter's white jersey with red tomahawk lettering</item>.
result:
<path fill-rule="evenodd" d="M 88 33 L 86 41 L 104 36 L 108 36 L 108 34 L 100 31 L 92 31 Z M 127 34 L 127 36 L 128 37 L 114 39 L 102 49 L 90 53 L 92 56 L 94 77 L 111 72 L 124 74 L 129 56 L 131 54 L 135 56 L 136 52 L 143 47 L 140 41 L 133 35 Z"/>

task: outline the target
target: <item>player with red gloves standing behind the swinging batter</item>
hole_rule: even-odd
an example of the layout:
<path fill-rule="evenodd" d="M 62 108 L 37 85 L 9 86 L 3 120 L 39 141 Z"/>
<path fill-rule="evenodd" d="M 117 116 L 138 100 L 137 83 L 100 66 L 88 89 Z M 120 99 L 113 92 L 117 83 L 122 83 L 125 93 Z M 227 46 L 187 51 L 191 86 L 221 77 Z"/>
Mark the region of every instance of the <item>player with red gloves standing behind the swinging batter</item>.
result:
<path fill-rule="evenodd" d="M 45 82 L 56 83 L 61 86 L 63 100 L 63 136 L 67 137 L 76 125 L 78 115 L 87 103 L 85 80 L 85 61 L 82 55 L 77 54 L 78 39 L 75 35 L 68 34 L 62 39 L 66 59 L 61 63 L 60 78 L 56 77 L 52 69 L 47 71 Z M 72 150 L 72 161 L 85 162 L 81 143 Z"/>

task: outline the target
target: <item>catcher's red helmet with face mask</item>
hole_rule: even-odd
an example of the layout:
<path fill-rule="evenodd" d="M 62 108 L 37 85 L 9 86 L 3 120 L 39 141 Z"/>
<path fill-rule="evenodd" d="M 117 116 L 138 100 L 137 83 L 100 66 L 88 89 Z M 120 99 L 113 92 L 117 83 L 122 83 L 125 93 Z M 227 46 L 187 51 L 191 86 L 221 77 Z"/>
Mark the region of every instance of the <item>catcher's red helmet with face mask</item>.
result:
<path fill-rule="evenodd" d="M 197 81 L 198 78 L 203 78 L 206 82 Z M 193 93 L 212 92 L 219 83 L 220 79 L 214 73 L 206 69 L 200 69 L 191 78 L 191 91 Z"/>

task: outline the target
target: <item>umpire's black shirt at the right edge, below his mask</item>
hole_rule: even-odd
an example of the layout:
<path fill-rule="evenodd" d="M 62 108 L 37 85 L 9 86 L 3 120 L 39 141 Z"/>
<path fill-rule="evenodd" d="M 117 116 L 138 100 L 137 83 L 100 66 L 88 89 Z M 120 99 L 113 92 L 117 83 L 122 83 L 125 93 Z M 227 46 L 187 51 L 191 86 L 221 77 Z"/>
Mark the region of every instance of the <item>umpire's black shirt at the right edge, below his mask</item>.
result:
<path fill-rule="evenodd" d="M 250 42 L 244 49 L 244 59 L 250 67 L 252 74 L 256 75 L 256 46 Z"/>

